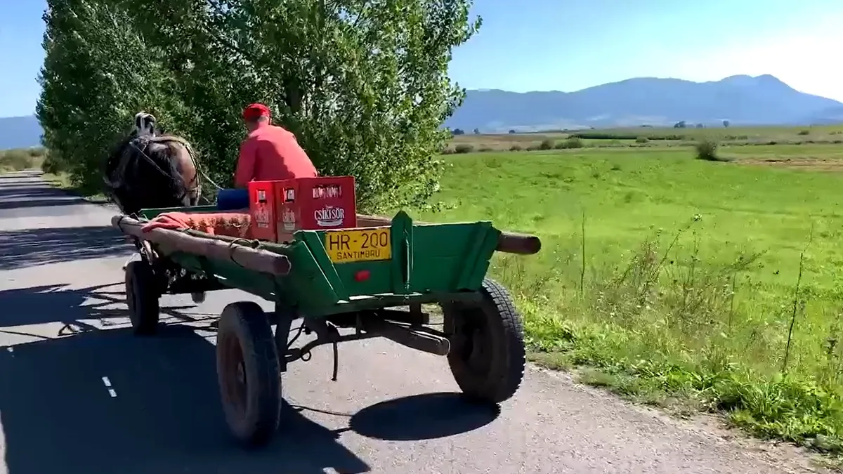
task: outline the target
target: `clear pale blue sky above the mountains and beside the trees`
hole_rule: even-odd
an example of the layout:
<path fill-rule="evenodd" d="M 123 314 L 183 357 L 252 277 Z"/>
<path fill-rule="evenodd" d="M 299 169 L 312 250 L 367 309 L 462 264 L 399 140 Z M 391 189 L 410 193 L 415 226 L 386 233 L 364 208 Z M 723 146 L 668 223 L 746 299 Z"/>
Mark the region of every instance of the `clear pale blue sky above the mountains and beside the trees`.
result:
<path fill-rule="evenodd" d="M 29 115 L 43 0 L 0 0 L 0 116 Z M 483 26 L 454 52 L 469 89 L 584 89 L 632 77 L 773 74 L 843 101 L 840 0 L 475 0 Z"/>

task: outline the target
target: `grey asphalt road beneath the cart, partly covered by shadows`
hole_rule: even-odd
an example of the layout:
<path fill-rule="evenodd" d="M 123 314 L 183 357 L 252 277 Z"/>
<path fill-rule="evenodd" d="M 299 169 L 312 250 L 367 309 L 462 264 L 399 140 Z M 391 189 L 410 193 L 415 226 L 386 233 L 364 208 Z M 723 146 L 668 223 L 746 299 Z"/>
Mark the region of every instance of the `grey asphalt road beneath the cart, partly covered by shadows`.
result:
<path fill-rule="evenodd" d="M 341 346 L 336 382 L 330 347 L 293 364 L 281 433 L 241 450 L 223 422 L 208 319 L 253 298 L 165 297 L 166 330 L 132 337 L 121 271 L 132 247 L 108 227 L 114 213 L 35 172 L 0 175 L 0 473 L 807 471 L 793 450 L 540 369 L 499 412 L 469 407 L 443 358 L 382 340 Z"/>

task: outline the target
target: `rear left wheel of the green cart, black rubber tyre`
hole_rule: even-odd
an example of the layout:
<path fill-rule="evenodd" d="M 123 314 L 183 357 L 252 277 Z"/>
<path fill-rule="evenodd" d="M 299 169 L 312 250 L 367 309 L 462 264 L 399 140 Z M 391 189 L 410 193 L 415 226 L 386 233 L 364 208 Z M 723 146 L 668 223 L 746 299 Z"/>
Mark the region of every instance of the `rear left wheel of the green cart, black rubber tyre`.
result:
<path fill-rule="evenodd" d="M 217 378 L 228 428 L 242 443 L 266 444 L 281 417 L 281 381 L 272 328 L 258 304 L 223 309 L 217 330 Z"/>

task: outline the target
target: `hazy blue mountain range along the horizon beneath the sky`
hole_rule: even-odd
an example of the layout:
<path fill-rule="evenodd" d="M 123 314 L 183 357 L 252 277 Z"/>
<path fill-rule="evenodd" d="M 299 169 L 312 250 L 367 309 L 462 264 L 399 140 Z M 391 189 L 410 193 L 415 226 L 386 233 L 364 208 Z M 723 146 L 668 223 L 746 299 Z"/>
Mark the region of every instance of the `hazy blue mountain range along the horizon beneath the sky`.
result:
<path fill-rule="evenodd" d="M 672 127 L 678 121 L 722 126 L 723 120 L 733 126 L 843 123 L 843 103 L 799 92 L 771 75 L 706 83 L 631 78 L 576 92 L 469 90 L 445 126 L 492 133 Z M 0 150 L 38 146 L 41 133 L 35 116 L 0 118 Z"/>

